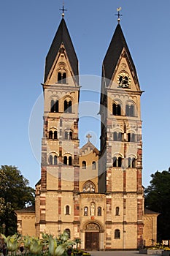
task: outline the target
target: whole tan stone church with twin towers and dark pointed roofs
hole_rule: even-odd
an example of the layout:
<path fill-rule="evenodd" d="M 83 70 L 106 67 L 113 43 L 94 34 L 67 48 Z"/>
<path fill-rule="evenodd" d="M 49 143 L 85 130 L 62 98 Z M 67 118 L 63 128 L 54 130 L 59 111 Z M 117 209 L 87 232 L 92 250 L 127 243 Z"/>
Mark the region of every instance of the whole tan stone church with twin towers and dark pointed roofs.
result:
<path fill-rule="evenodd" d="M 100 151 L 90 135 L 80 148 L 78 66 L 62 17 L 42 83 L 41 179 L 35 208 L 16 211 L 18 232 L 58 236 L 66 230 L 86 250 L 149 246 L 156 242 L 158 214 L 144 210 L 142 90 L 120 20 L 102 64 Z"/>

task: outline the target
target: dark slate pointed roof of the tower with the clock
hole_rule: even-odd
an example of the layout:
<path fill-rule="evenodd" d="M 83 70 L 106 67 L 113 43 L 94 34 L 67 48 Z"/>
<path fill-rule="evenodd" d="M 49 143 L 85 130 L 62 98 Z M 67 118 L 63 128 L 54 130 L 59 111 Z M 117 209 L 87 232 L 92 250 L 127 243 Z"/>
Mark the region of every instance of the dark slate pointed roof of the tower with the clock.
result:
<path fill-rule="evenodd" d="M 126 53 L 128 54 L 129 61 L 132 65 L 132 68 L 134 69 L 134 73 L 137 79 L 134 61 L 131 58 L 131 53 L 128 50 L 128 45 L 125 42 L 125 37 L 119 23 L 117 24 L 115 33 L 113 34 L 112 40 L 109 44 L 106 56 L 104 57 L 102 74 L 103 77 L 108 78 L 109 80 L 112 78 L 113 72 L 115 71 L 115 67 L 117 65 L 117 61 L 120 58 L 120 54 L 122 53 L 123 48 L 125 48 Z"/>

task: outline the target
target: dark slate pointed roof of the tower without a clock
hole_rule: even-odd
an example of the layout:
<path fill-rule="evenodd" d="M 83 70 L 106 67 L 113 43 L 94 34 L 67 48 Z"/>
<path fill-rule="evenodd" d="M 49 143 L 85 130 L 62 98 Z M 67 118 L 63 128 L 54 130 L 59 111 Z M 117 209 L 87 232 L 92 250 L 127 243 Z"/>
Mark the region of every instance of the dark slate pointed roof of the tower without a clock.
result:
<path fill-rule="evenodd" d="M 72 44 L 72 39 L 69 35 L 69 30 L 67 29 L 66 22 L 64 18 L 62 18 L 60 25 L 58 26 L 58 30 L 55 34 L 53 42 L 50 46 L 50 50 L 47 53 L 46 61 L 45 61 L 45 79 L 47 80 L 47 75 L 50 72 L 51 67 L 53 66 L 53 62 L 55 61 L 55 57 L 58 54 L 58 50 L 61 47 L 61 43 L 63 43 L 66 53 L 69 57 L 69 62 L 72 66 L 72 70 L 74 72 L 73 75 L 79 75 L 78 72 L 78 59 L 74 50 L 74 46 Z M 77 80 L 78 82 L 78 80 Z"/>

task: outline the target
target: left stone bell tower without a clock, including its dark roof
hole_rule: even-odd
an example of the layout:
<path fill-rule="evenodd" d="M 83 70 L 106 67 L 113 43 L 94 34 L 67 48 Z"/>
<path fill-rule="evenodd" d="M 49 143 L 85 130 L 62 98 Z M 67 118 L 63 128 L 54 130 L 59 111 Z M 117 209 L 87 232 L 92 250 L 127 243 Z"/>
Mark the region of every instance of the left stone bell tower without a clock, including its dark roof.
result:
<path fill-rule="evenodd" d="M 79 222 L 80 97 L 77 55 L 62 15 L 45 61 L 42 173 L 36 196 L 36 236 L 67 229 L 77 235 Z M 74 195 L 76 193 L 76 195 Z M 74 230 L 74 221 L 76 228 Z"/>

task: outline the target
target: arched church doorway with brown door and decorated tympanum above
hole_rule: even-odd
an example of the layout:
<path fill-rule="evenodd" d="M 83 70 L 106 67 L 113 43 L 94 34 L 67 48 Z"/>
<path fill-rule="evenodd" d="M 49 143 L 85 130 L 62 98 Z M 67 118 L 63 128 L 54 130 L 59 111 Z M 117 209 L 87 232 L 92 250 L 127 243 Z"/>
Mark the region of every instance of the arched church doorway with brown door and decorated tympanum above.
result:
<path fill-rule="evenodd" d="M 85 249 L 97 251 L 99 249 L 100 227 L 96 223 L 89 223 L 85 227 Z"/>

